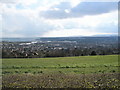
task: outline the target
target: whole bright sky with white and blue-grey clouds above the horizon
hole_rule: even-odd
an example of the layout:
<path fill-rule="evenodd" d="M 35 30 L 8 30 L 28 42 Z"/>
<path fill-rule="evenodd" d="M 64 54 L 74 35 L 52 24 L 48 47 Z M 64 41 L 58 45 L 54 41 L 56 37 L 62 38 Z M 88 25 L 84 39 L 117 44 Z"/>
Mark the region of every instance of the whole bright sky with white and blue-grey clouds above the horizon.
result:
<path fill-rule="evenodd" d="M 117 0 L 0 0 L 2 37 L 116 35 Z"/>

